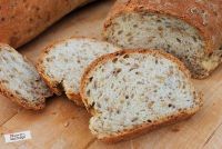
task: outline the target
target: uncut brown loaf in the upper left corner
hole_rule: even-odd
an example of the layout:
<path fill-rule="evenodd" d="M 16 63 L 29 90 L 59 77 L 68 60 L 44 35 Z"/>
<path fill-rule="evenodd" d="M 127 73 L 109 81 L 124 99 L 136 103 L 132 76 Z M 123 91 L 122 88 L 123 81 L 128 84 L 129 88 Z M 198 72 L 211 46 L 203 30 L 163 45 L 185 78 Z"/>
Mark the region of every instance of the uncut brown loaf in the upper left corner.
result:
<path fill-rule="evenodd" d="M 0 42 L 30 41 L 63 16 L 93 0 L 0 0 Z"/>

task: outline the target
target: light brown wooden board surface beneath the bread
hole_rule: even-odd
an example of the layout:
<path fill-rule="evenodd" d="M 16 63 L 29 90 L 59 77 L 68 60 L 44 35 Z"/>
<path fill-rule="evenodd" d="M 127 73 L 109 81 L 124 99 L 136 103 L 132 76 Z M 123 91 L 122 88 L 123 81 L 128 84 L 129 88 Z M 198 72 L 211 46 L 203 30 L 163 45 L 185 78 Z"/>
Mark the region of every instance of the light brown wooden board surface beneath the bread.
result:
<path fill-rule="evenodd" d="M 73 36 L 101 39 L 102 23 L 112 4 L 112 0 L 101 0 L 79 9 L 18 50 L 36 63 L 50 42 Z M 38 112 L 0 96 L 0 149 L 221 149 L 222 66 L 209 79 L 193 81 L 204 93 L 200 112 L 186 121 L 115 145 L 98 141 L 88 129 L 90 116 L 64 96 L 48 99 L 47 108 Z M 23 130 L 30 130 L 32 139 L 4 142 L 3 133 Z"/>

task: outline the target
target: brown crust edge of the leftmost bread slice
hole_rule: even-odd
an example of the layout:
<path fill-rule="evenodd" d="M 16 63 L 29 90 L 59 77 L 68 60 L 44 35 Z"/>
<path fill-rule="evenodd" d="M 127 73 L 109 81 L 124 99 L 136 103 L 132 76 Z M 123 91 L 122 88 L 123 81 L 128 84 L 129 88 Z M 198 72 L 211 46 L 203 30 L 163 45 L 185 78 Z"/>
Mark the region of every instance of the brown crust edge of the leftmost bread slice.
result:
<path fill-rule="evenodd" d="M 8 44 L 4 43 L 0 43 L 1 48 L 7 48 L 7 49 L 12 49 L 11 47 L 9 47 Z M 17 52 L 14 50 L 14 52 Z M 30 63 L 24 57 L 23 57 L 24 61 L 27 61 L 28 63 Z M 46 99 L 42 97 L 42 99 L 39 99 L 39 102 L 29 102 L 26 99 L 22 99 L 20 97 L 18 97 L 16 93 L 13 93 L 13 91 L 8 90 L 3 85 L 0 83 L 0 93 L 3 95 L 4 97 L 11 99 L 13 102 L 20 105 L 21 107 L 26 108 L 26 109 L 32 109 L 32 110 L 41 110 L 46 107 Z"/>

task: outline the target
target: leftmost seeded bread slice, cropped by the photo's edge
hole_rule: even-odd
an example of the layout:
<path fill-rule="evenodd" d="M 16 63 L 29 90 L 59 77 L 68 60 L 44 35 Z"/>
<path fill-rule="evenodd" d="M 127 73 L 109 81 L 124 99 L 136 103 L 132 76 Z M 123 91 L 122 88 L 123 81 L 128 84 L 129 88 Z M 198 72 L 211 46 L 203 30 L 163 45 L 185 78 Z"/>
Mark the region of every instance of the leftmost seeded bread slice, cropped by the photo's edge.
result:
<path fill-rule="evenodd" d="M 0 93 L 27 109 L 44 107 L 52 96 L 36 68 L 20 53 L 0 43 Z"/>

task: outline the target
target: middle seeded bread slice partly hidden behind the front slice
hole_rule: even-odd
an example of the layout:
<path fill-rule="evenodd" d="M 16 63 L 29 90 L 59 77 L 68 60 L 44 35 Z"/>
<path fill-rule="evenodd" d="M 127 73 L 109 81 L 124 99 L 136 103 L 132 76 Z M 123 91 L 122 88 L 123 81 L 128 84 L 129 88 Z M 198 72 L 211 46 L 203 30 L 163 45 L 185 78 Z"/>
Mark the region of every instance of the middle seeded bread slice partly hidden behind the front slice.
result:
<path fill-rule="evenodd" d="M 54 93 L 64 91 L 70 100 L 83 106 L 79 85 L 84 69 L 95 58 L 117 50 L 119 48 L 95 39 L 67 39 L 47 48 L 38 64 L 39 72 Z"/>

